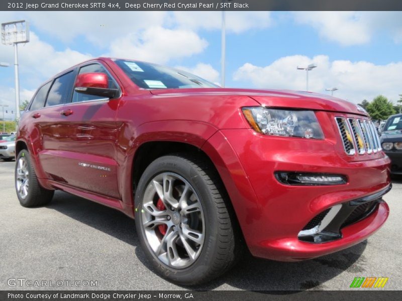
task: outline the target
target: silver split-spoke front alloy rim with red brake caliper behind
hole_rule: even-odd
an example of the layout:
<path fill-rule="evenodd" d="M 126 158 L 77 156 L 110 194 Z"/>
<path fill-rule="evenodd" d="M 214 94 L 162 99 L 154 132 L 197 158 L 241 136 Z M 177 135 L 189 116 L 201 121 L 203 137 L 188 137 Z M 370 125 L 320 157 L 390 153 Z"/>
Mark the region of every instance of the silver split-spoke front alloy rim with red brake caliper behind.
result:
<path fill-rule="evenodd" d="M 148 184 L 141 209 L 142 226 L 155 256 L 172 268 L 185 268 L 198 258 L 205 238 L 202 205 L 181 176 L 161 173 Z"/>

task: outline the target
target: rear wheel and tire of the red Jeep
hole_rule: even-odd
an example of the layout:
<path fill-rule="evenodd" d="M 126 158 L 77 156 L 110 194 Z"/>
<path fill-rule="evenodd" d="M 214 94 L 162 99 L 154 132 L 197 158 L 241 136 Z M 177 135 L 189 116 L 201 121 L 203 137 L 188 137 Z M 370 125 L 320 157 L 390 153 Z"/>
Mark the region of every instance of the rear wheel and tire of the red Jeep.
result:
<path fill-rule="evenodd" d="M 48 204 L 54 191 L 40 186 L 31 162 L 28 150 L 23 149 L 17 156 L 15 185 L 18 200 L 24 207 L 36 207 Z"/>

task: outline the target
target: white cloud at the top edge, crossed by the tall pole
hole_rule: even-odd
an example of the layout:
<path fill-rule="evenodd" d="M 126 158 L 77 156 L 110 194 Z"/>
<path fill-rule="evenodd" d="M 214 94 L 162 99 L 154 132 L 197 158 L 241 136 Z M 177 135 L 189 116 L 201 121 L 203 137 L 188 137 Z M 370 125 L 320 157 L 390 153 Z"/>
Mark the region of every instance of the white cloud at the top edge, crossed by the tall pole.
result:
<path fill-rule="evenodd" d="M 192 30 L 220 30 L 221 12 L 173 12 L 170 23 Z M 265 29 L 272 25 L 270 12 L 226 12 L 226 29 L 229 33 L 243 33 L 251 29 Z"/>

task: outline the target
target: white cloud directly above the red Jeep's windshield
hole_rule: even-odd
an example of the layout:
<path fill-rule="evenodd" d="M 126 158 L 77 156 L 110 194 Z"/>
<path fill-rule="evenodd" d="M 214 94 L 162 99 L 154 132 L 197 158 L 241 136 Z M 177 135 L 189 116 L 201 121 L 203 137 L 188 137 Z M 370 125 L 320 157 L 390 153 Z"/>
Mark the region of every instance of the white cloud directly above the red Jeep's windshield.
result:
<path fill-rule="evenodd" d="M 170 59 L 201 53 L 207 46 L 208 42 L 192 31 L 151 27 L 116 39 L 111 44 L 109 55 L 166 63 Z"/>

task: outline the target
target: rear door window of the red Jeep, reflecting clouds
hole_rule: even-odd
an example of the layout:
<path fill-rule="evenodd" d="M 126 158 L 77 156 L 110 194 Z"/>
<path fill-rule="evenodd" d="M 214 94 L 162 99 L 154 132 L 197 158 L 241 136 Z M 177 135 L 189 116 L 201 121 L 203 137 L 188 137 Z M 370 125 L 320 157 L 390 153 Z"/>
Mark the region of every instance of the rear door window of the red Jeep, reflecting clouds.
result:
<path fill-rule="evenodd" d="M 46 106 L 63 104 L 71 95 L 72 81 L 74 73 L 72 71 L 56 78 L 47 96 Z"/>

